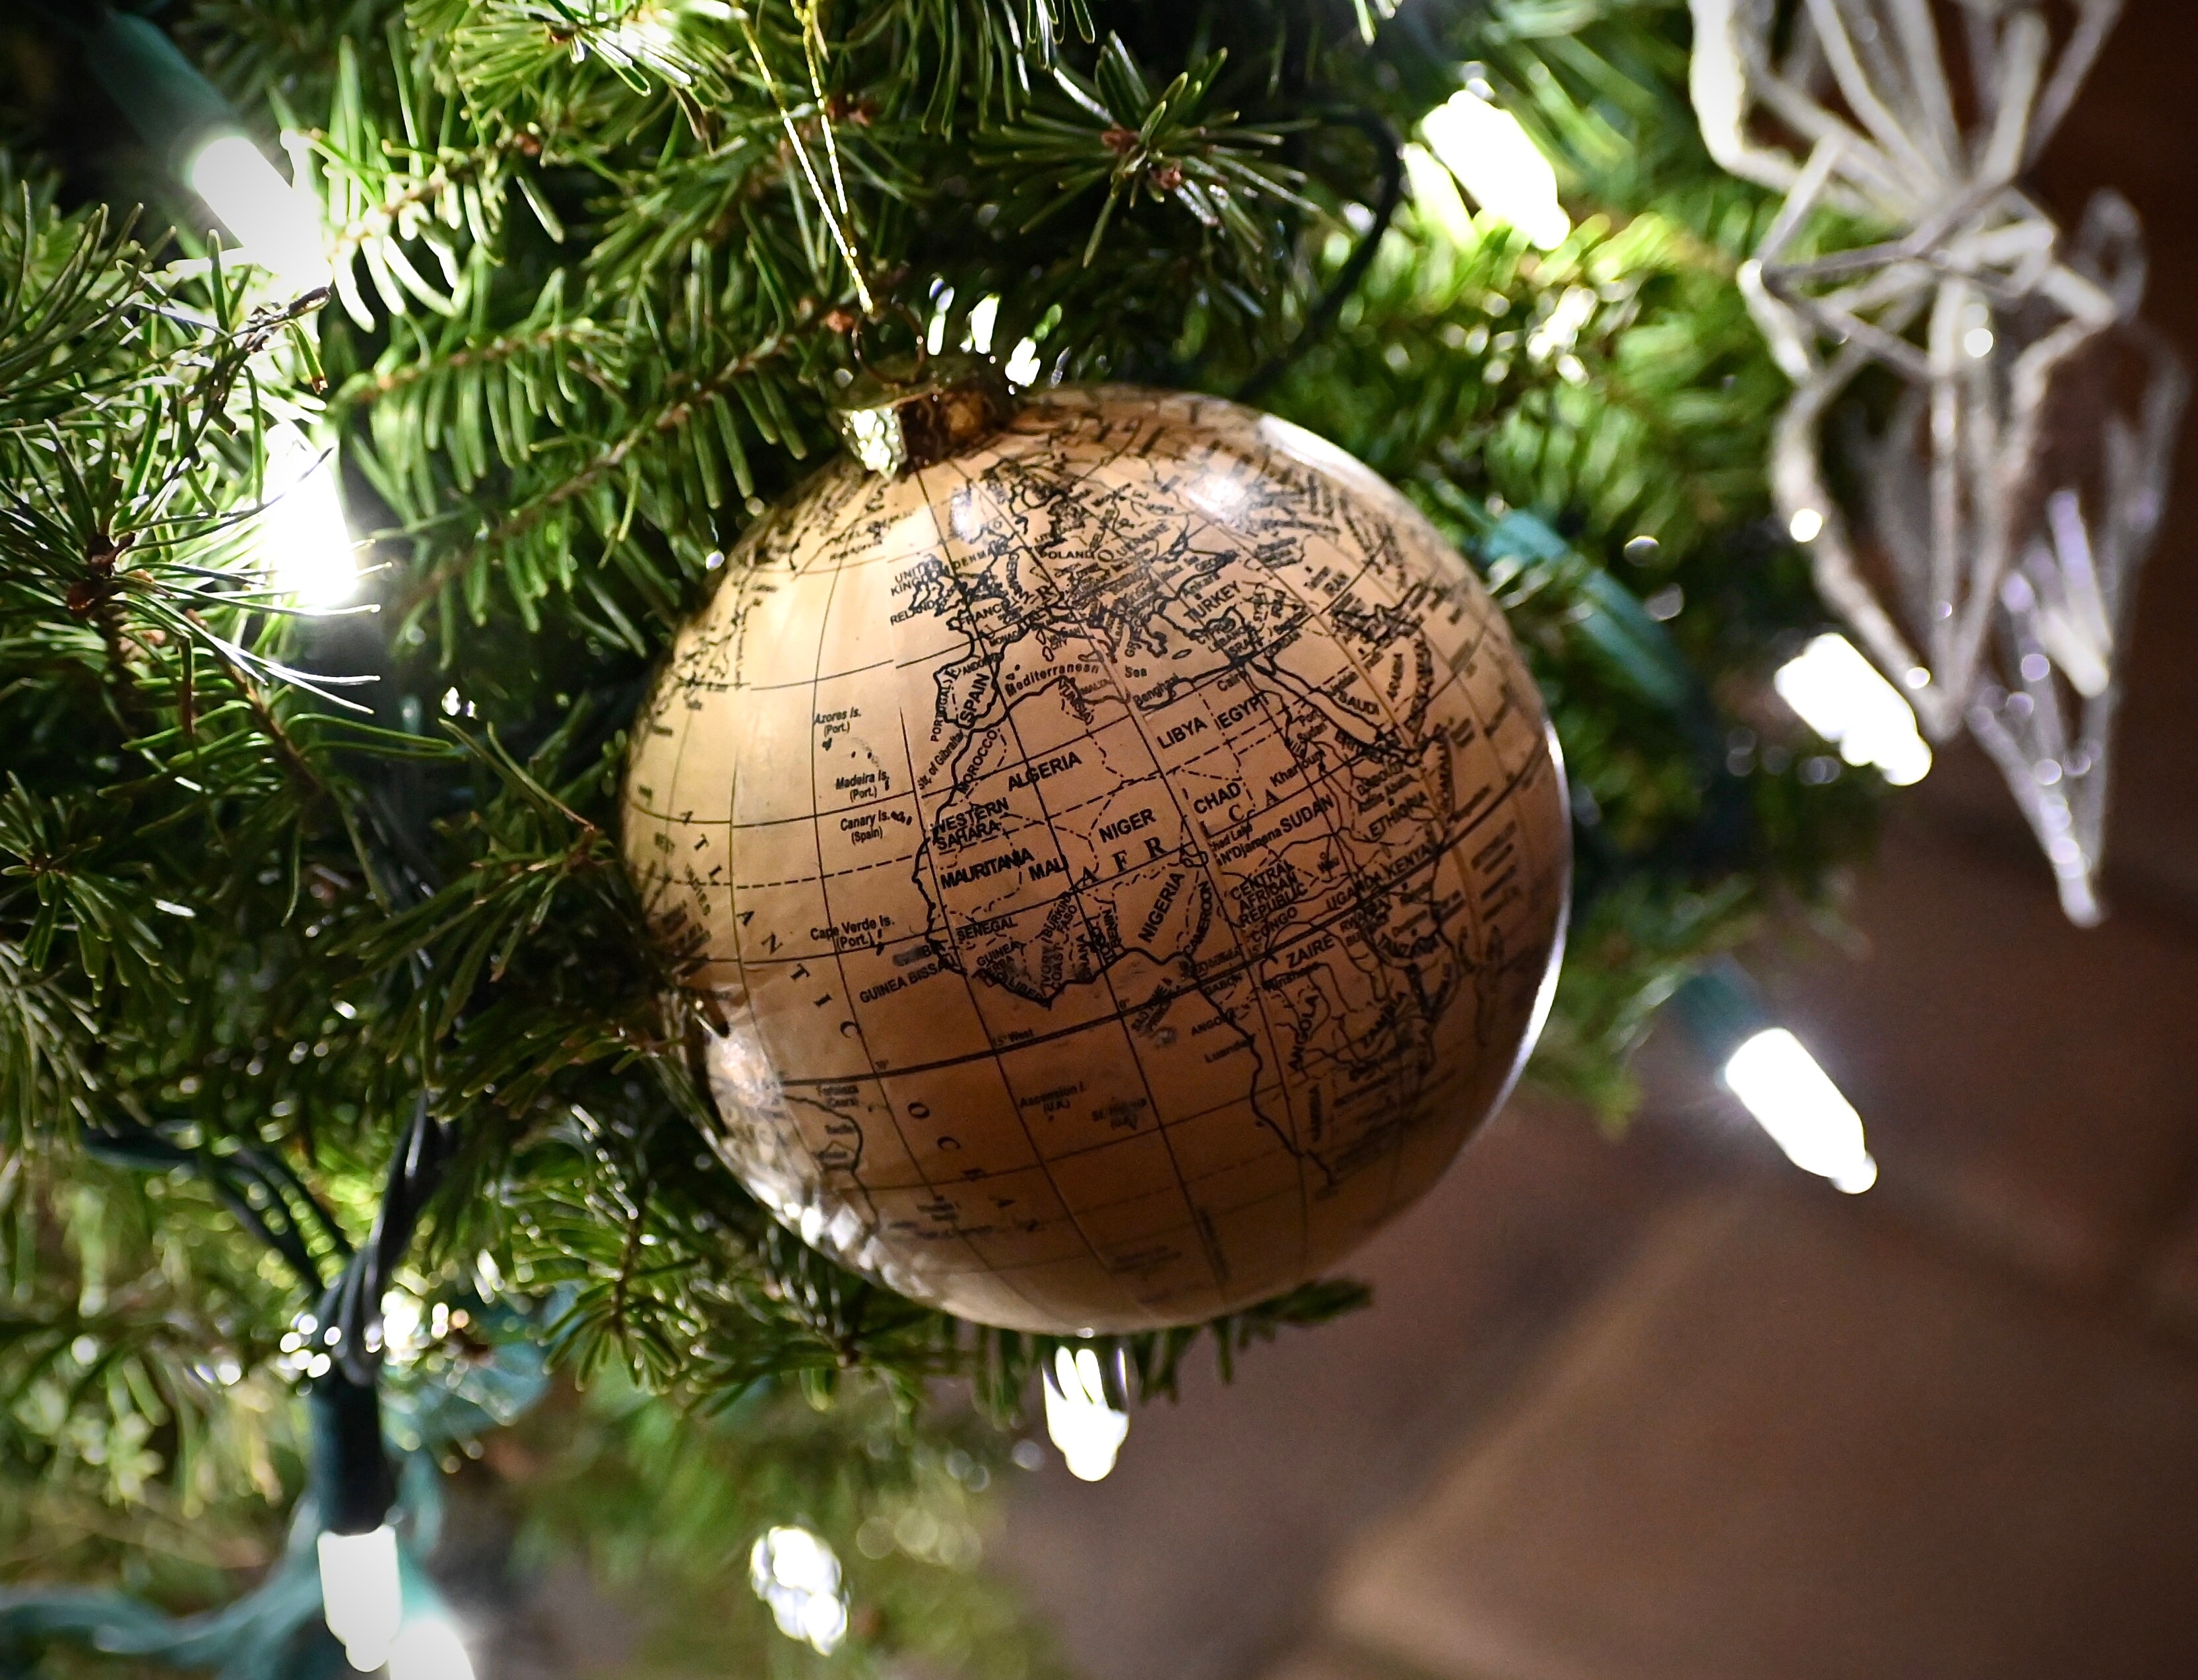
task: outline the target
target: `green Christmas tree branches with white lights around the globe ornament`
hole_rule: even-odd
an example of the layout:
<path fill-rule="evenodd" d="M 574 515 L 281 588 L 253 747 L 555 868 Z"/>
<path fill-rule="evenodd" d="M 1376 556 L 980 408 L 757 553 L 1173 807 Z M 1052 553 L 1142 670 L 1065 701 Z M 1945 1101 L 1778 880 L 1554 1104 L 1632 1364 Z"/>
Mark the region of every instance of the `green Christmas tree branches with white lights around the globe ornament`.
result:
<path fill-rule="evenodd" d="M 321 1530 L 387 1515 L 418 1599 L 453 1500 L 648 1579 L 666 1662 L 1051 1662 L 974 1563 L 1059 1346 L 703 1150 L 618 851 L 653 664 L 870 358 L 1255 402 L 1479 565 L 1572 776 L 1530 1077 L 1620 1119 L 1648 1016 L 1824 904 L 1879 789 L 1756 706 L 1824 614 L 1734 288 L 1776 200 L 1686 42 L 1664 0 L 0 9 L 0 1667 L 336 1673 Z M 1090 1352 L 1150 1399 L 1356 1300 Z"/>

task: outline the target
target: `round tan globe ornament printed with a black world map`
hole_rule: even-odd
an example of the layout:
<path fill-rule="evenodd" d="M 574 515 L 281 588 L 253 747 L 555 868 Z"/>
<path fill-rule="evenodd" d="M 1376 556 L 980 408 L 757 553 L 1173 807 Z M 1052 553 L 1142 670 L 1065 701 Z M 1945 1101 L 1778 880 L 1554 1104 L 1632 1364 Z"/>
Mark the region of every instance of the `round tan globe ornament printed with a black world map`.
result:
<path fill-rule="evenodd" d="M 1367 468 L 1059 389 L 750 532 L 624 847 L 758 1196 L 963 1317 L 1134 1330 L 1317 1275 L 1501 1102 L 1563 932 L 1552 754 Z"/>

